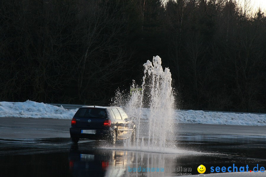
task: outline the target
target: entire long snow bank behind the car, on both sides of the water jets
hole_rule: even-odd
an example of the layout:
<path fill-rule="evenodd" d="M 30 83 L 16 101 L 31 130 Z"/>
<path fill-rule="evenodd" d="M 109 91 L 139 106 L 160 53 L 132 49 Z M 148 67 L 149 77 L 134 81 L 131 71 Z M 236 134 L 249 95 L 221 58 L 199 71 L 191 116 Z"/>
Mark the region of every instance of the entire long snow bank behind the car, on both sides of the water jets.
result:
<path fill-rule="evenodd" d="M 72 119 L 77 109 L 64 109 L 50 104 L 25 102 L 0 102 L 0 117 L 32 117 L 51 119 Z M 147 121 L 150 109 L 143 109 L 142 121 Z M 177 123 L 225 124 L 266 126 L 266 114 L 236 114 L 204 111 L 174 111 Z"/>

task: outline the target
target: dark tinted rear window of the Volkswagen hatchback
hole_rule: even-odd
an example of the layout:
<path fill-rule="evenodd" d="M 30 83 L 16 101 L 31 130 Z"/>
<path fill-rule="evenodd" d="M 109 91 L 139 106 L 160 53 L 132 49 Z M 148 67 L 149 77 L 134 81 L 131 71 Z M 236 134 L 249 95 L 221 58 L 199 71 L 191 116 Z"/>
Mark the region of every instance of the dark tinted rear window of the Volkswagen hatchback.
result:
<path fill-rule="evenodd" d="M 80 108 L 74 117 L 85 118 L 106 118 L 106 109 L 101 108 Z"/>

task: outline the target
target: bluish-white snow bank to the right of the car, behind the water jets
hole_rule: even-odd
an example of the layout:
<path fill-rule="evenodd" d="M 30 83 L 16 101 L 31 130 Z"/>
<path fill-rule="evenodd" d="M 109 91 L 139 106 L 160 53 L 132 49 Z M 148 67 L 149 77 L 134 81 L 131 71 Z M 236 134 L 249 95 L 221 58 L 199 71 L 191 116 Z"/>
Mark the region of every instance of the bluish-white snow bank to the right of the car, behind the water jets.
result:
<path fill-rule="evenodd" d="M 142 119 L 147 120 L 145 117 L 148 114 L 150 114 L 150 110 L 145 109 Z M 266 114 L 174 110 L 173 117 L 176 123 L 266 126 Z"/>

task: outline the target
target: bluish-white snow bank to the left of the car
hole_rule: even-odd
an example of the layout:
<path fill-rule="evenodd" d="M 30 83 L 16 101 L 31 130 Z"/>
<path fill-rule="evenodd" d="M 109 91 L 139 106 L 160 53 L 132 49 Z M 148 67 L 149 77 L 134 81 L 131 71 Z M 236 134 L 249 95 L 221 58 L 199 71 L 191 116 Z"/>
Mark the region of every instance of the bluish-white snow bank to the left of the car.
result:
<path fill-rule="evenodd" d="M 32 117 L 50 119 L 72 119 L 78 109 L 64 109 L 63 106 L 25 102 L 0 102 L 0 117 Z"/>

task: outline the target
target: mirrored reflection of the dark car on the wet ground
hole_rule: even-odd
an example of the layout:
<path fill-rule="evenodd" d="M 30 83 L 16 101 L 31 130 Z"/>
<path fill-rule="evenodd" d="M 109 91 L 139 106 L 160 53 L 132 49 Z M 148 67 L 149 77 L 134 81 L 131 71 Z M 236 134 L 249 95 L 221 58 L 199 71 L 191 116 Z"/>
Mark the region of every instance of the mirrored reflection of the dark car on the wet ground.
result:
<path fill-rule="evenodd" d="M 80 151 L 78 145 L 72 145 L 68 158 L 72 176 L 124 176 L 134 155 L 116 150 Z"/>

